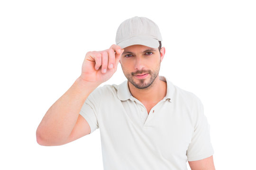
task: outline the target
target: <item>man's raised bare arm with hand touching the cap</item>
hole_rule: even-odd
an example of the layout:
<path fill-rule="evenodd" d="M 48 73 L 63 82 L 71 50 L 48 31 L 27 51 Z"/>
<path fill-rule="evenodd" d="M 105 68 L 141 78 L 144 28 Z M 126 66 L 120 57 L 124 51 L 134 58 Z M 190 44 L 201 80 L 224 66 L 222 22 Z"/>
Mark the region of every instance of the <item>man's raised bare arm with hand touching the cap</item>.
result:
<path fill-rule="evenodd" d="M 90 93 L 116 72 L 124 50 L 113 44 L 104 51 L 87 52 L 82 73 L 73 85 L 47 110 L 37 127 L 37 143 L 62 145 L 91 132 L 88 122 L 79 115 Z"/>

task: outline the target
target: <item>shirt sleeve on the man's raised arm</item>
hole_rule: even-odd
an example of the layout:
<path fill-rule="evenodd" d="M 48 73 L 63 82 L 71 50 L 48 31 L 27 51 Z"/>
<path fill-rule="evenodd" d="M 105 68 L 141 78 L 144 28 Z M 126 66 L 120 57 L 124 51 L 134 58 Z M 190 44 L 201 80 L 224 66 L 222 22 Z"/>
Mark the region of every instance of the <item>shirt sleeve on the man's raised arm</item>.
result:
<path fill-rule="evenodd" d="M 96 88 L 87 97 L 79 113 L 88 122 L 91 128 L 91 133 L 99 128 L 98 114 L 101 105 L 101 95 L 101 87 Z"/>

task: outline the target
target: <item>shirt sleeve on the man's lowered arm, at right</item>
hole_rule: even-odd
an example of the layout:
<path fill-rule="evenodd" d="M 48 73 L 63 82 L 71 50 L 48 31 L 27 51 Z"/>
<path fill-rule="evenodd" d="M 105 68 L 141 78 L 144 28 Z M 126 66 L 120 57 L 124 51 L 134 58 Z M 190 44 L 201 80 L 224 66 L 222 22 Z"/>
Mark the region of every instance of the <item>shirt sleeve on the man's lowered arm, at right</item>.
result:
<path fill-rule="evenodd" d="M 197 161 L 213 155 L 213 147 L 210 142 L 210 124 L 203 113 L 203 105 L 199 98 L 195 98 L 193 108 L 194 132 L 191 143 L 188 146 L 188 161 Z"/>

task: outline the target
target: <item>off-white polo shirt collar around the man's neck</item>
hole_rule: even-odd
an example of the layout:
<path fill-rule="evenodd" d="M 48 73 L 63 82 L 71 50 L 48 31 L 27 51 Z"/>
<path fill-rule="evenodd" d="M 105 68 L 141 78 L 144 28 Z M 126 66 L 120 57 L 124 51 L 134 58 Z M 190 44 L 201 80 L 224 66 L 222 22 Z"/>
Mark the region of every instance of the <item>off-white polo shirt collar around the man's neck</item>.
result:
<path fill-rule="evenodd" d="M 159 76 L 159 79 L 162 81 L 165 81 L 167 84 L 167 92 L 166 96 L 163 100 L 167 100 L 171 102 L 174 94 L 174 85 L 172 82 L 170 82 L 168 79 L 165 78 L 165 76 Z M 134 99 L 134 97 L 131 95 L 129 87 L 128 87 L 128 80 L 125 80 L 123 83 L 118 85 L 117 88 L 117 96 L 119 100 L 126 101 L 128 99 Z"/>

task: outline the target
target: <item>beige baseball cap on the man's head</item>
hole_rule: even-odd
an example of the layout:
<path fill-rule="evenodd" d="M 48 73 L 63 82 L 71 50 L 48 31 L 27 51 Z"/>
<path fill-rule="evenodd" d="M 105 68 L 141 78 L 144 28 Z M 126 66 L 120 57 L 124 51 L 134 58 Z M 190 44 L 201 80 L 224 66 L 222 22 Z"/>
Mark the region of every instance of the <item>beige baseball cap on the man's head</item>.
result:
<path fill-rule="evenodd" d="M 116 44 L 122 49 L 131 45 L 158 48 L 162 36 L 158 26 L 146 17 L 132 17 L 123 21 L 117 30 Z"/>

